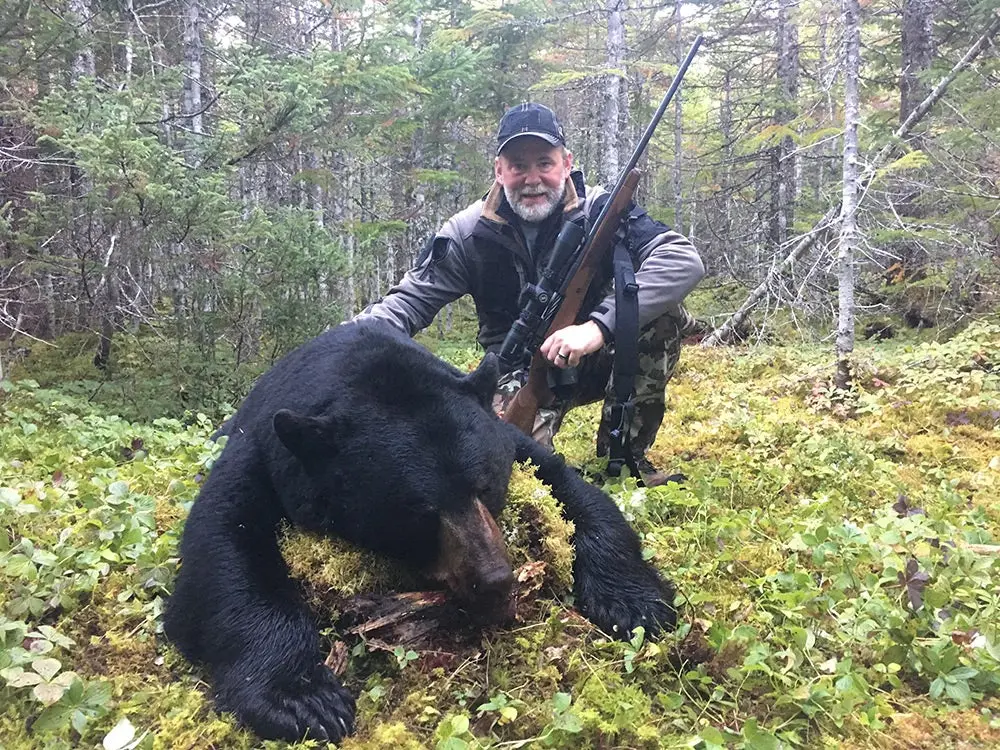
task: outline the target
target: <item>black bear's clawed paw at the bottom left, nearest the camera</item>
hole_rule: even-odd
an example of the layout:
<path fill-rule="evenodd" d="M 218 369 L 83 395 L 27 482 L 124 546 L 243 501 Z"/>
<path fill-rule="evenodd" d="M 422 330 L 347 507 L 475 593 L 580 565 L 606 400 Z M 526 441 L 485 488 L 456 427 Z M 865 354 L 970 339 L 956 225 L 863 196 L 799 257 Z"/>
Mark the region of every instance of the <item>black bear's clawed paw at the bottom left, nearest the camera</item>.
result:
<path fill-rule="evenodd" d="M 220 690 L 219 705 L 264 739 L 338 742 L 354 731 L 354 698 L 323 664 L 287 682 Z"/>

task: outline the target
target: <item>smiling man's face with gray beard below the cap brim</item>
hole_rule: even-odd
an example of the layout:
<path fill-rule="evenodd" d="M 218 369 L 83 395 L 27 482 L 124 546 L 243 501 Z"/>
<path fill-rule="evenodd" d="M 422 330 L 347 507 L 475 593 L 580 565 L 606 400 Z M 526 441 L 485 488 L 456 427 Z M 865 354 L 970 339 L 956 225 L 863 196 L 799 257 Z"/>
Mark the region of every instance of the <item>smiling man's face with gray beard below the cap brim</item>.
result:
<path fill-rule="evenodd" d="M 562 202 L 573 154 L 541 138 L 522 136 L 508 143 L 494 164 L 507 202 L 524 221 L 548 218 Z"/>

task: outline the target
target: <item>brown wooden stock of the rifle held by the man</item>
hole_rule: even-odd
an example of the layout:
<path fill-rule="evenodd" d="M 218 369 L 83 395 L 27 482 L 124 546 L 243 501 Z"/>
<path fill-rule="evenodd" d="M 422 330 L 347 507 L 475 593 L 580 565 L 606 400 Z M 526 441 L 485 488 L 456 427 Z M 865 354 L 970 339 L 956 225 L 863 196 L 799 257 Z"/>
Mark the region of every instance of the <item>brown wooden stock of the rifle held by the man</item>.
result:
<path fill-rule="evenodd" d="M 594 274 L 600 267 L 601 261 L 614 249 L 615 233 L 618 231 L 622 217 L 628 212 L 629 205 L 632 203 L 640 176 L 641 173 L 638 169 L 629 171 L 622 189 L 615 196 L 603 220 L 588 235 L 589 241 L 583 249 L 575 272 L 570 277 L 562 304 L 559 306 L 545 338 L 576 323 Z M 553 394 L 549 388 L 547 374 L 551 366 L 541 353 L 536 351 L 531 357 L 527 381 L 514 394 L 514 398 L 501 415 L 505 422 L 514 425 L 526 435 L 530 436 L 534 430 L 535 414 L 538 409 L 552 403 Z"/>

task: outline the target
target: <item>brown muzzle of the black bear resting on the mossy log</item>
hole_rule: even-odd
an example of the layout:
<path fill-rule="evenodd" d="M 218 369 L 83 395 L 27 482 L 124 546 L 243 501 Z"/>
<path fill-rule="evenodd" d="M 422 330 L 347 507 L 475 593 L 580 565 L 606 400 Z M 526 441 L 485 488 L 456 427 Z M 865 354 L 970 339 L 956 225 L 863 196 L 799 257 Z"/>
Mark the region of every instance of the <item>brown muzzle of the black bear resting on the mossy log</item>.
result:
<path fill-rule="evenodd" d="M 503 535 L 478 499 L 441 514 L 432 578 L 443 583 L 475 619 L 502 623 L 514 616 L 514 571 Z"/>

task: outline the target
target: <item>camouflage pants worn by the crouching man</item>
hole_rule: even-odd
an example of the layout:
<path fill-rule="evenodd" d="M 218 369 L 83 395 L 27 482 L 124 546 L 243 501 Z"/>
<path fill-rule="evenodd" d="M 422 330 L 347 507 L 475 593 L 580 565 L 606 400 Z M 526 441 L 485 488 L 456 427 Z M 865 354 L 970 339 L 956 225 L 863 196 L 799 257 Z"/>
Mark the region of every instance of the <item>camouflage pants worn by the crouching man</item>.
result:
<path fill-rule="evenodd" d="M 681 353 L 684 321 L 664 315 L 639 331 L 639 372 L 635 379 L 635 415 L 632 418 L 630 444 L 635 456 L 642 456 L 656 439 L 663 422 L 667 382 L 674 374 Z M 552 439 L 559 432 L 566 412 L 576 406 L 604 400 L 601 424 L 597 428 L 597 455 L 606 456 L 611 424 L 611 405 L 614 403 L 614 344 L 602 347 L 584 357 L 578 368 L 579 382 L 568 397 L 557 400 L 535 414 L 531 436 L 543 445 L 552 447 Z M 519 385 L 510 378 L 501 379 L 493 396 L 493 409 L 500 413 L 510 403 Z"/>

